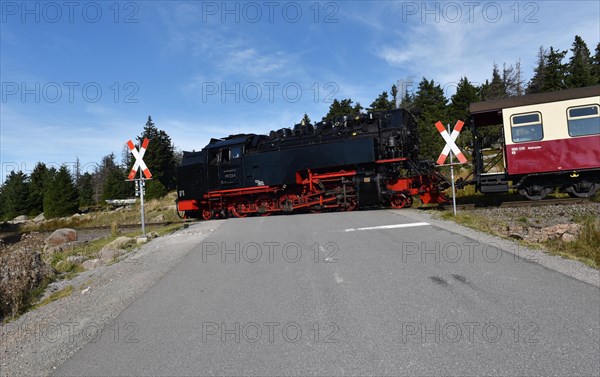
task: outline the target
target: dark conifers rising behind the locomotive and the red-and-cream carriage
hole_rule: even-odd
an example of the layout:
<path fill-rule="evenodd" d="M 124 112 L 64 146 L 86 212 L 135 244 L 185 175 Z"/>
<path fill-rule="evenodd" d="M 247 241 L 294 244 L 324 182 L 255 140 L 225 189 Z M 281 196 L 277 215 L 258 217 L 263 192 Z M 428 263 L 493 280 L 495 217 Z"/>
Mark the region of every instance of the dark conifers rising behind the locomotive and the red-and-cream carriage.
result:
<path fill-rule="evenodd" d="M 397 86 L 392 85 L 389 92 L 383 91 L 366 110 L 384 111 L 399 107 L 413 113 L 419 125 L 420 156 L 423 159 L 436 159 L 445 142 L 434 124 L 440 120 L 454 126 L 458 119 L 467 121 L 471 103 L 600 84 L 600 43 L 592 55 L 585 41 L 575 36 L 567 59 L 568 52 L 554 47 L 540 47 L 532 78 L 528 82 L 524 82 L 520 61 L 515 65 L 503 64 L 502 68 L 494 64 L 491 79 L 476 84 L 462 77 L 450 98 L 446 98 L 439 83 L 423 77 L 414 93 L 405 90 L 399 98 Z M 360 103 L 354 103 L 350 98 L 335 99 L 322 120 L 333 121 L 344 115 L 356 116 L 363 110 Z M 305 114 L 303 122 L 307 121 L 310 118 Z M 483 132 L 481 137 L 487 144 L 500 136 L 496 128 Z M 457 144 L 461 149 L 466 147 L 468 150 L 471 143 L 472 135 L 464 128 Z"/>

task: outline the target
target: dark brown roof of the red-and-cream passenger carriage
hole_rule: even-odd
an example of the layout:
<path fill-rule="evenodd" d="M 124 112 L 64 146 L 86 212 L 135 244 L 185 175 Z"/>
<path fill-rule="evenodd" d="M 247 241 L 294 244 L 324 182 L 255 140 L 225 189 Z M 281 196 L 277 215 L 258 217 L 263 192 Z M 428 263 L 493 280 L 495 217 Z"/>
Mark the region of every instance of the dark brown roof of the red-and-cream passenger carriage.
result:
<path fill-rule="evenodd" d="M 600 85 L 566 89 L 557 92 L 530 94 L 492 101 L 475 102 L 469 107 L 476 126 L 502 123 L 502 110 L 511 107 L 537 105 L 540 103 L 565 101 L 600 95 Z"/>

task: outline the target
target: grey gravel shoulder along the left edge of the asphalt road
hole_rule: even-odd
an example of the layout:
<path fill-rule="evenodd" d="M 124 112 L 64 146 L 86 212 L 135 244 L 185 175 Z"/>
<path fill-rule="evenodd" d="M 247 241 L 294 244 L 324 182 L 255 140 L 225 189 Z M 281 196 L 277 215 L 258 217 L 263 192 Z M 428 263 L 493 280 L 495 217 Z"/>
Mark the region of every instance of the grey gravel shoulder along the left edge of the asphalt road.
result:
<path fill-rule="evenodd" d="M 156 238 L 119 263 L 61 283 L 73 286 L 71 296 L 0 326 L 0 376 L 49 375 L 88 342 L 115 336 L 106 325 L 222 223 L 202 222 Z"/>

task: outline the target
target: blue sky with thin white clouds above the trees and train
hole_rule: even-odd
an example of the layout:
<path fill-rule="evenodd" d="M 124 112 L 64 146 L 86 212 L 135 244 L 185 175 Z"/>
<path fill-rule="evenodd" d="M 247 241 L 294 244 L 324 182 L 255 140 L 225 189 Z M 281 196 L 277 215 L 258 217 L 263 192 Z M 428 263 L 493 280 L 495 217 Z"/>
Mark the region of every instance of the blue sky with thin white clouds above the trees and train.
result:
<path fill-rule="evenodd" d="M 483 82 L 520 59 L 528 80 L 539 46 L 600 39 L 598 1 L 0 4 L 0 181 L 37 161 L 91 171 L 148 115 L 199 150 L 423 76 L 449 97 L 461 76 Z"/>

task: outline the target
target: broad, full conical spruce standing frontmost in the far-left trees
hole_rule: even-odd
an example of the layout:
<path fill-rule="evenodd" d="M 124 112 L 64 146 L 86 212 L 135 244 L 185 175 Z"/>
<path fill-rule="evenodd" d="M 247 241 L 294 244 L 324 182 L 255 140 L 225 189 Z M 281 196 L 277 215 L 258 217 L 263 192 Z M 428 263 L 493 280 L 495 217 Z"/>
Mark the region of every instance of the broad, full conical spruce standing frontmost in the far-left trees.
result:
<path fill-rule="evenodd" d="M 48 182 L 44 191 L 44 216 L 47 219 L 69 216 L 79 208 L 79 194 L 65 165 Z"/>

